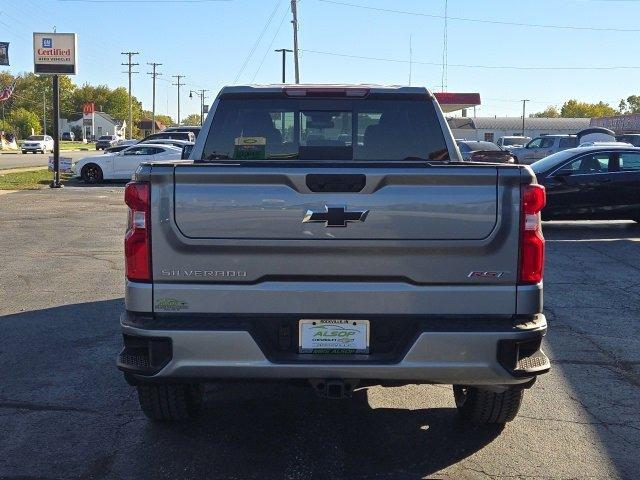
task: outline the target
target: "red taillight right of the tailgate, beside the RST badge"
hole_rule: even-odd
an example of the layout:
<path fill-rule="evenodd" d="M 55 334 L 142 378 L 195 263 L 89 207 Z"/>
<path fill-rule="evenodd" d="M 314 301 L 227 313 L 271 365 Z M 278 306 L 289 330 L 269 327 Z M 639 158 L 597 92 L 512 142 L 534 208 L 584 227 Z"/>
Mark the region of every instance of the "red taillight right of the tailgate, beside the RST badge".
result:
<path fill-rule="evenodd" d="M 547 198 L 542 185 L 522 187 L 520 202 L 520 264 L 519 283 L 539 283 L 544 269 L 544 237 L 540 225 L 540 211 Z"/>

